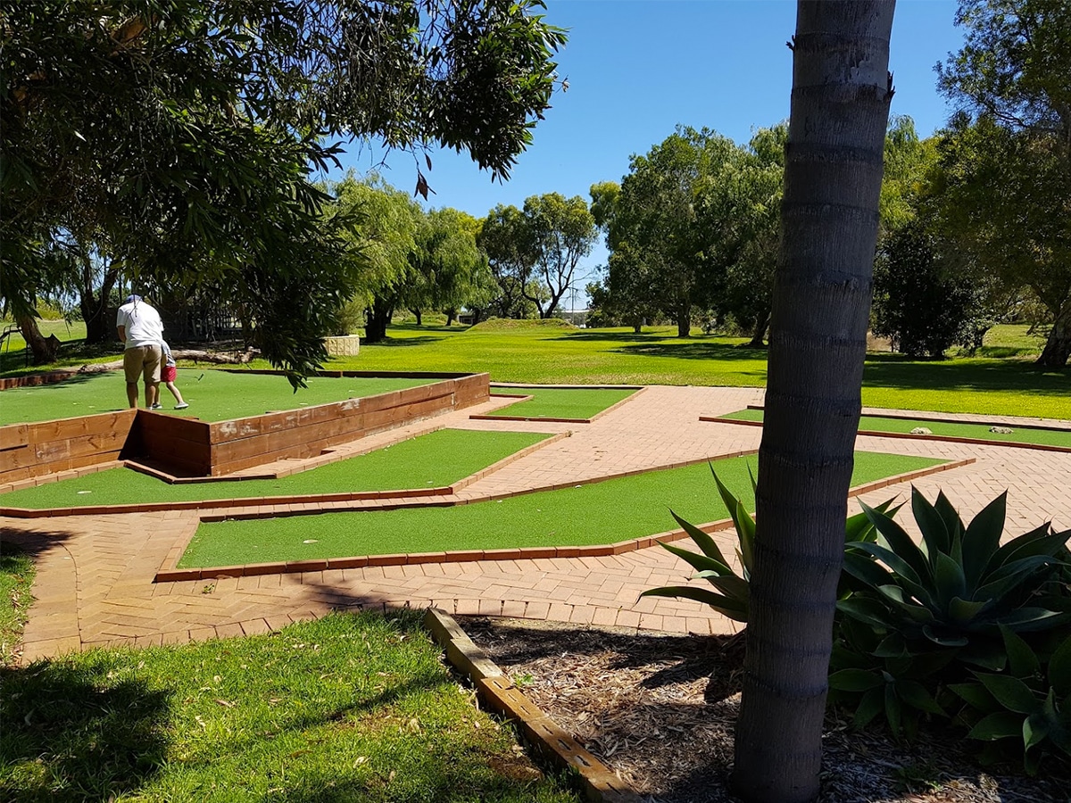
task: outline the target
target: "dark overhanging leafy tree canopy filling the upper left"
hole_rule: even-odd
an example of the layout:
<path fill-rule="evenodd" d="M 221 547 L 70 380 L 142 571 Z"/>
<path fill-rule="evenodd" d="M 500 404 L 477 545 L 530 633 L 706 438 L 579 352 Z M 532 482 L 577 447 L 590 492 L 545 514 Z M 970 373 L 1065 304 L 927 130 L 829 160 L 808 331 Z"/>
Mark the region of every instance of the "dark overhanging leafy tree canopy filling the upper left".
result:
<path fill-rule="evenodd" d="M 5 303 L 32 314 L 35 255 L 67 231 L 141 286 L 241 304 L 270 334 L 265 355 L 298 379 L 323 355 L 323 316 L 360 282 L 310 172 L 334 164 L 340 139 L 377 138 L 467 151 L 508 177 L 564 42 L 541 9 L 0 1 Z"/>

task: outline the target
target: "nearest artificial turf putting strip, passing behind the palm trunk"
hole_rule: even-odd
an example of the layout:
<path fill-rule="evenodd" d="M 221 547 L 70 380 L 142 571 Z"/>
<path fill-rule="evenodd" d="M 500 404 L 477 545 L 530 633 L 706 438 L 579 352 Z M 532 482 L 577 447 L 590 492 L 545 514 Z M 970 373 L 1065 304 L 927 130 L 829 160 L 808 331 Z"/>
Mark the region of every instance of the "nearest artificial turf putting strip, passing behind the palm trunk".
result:
<path fill-rule="evenodd" d="M 754 457 L 735 457 L 713 464 L 723 482 L 750 506 L 748 466 L 754 463 Z M 851 482 L 861 485 L 941 463 L 857 452 Z M 699 464 L 456 507 L 207 522 L 198 528 L 179 566 L 610 544 L 675 529 L 670 507 L 696 524 L 727 516 L 710 469 Z"/>

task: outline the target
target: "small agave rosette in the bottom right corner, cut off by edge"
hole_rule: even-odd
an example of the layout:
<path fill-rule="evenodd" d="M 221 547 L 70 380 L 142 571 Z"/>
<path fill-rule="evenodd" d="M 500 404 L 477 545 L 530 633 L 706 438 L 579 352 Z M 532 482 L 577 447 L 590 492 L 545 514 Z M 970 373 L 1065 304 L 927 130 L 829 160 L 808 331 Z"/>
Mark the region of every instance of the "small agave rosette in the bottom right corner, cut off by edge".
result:
<path fill-rule="evenodd" d="M 960 717 L 968 739 L 1023 745 L 1027 772 L 1046 754 L 1071 760 L 1071 636 L 1042 662 L 1010 627 L 1000 625 L 1008 672 L 974 672 L 975 681 L 949 686 L 966 703 Z"/>

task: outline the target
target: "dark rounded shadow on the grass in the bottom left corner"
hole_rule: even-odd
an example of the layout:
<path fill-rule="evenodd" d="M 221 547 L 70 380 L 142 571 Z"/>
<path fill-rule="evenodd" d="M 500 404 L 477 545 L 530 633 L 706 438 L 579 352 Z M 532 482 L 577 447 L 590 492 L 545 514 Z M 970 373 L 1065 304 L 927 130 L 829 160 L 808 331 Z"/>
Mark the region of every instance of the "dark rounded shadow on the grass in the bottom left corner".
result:
<path fill-rule="evenodd" d="M 168 693 L 101 680 L 63 663 L 0 669 L 0 799 L 114 800 L 160 771 Z"/>

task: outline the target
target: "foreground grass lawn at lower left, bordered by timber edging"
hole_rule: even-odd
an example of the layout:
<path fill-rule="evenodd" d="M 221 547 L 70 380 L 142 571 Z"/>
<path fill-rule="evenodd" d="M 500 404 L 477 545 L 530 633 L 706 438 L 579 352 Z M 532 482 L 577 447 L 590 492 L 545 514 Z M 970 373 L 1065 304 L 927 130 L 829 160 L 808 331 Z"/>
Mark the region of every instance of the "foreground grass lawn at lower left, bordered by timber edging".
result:
<path fill-rule="evenodd" d="M 476 708 L 419 617 L 0 670 L 0 799 L 578 803 Z"/>

